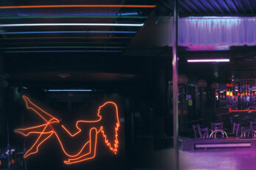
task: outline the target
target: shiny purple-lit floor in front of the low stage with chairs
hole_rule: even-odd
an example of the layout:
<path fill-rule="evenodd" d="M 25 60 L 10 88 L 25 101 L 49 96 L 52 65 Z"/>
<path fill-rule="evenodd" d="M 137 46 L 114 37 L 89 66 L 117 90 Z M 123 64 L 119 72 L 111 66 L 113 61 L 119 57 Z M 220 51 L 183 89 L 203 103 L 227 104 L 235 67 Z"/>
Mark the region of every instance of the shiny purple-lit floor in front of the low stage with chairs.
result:
<path fill-rule="evenodd" d="M 161 169 L 172 169 L 173 149 L 156 153 Z M 205 149 L 179 152 L 180 170 L 252 170 L 256 169 L 256 149 Z"/>

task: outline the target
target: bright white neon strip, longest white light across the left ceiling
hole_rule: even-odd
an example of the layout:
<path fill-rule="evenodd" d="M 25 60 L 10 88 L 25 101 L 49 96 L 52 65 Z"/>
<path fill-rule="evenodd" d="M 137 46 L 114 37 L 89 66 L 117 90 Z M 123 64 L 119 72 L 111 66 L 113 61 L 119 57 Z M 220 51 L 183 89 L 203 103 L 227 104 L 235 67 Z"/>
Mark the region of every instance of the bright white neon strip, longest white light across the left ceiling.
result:
<path fill-rule="evenodd" d="M 0 24 L 0 27 L 11 26 L 143 26 L 143 23 L 13 23 Z"/>

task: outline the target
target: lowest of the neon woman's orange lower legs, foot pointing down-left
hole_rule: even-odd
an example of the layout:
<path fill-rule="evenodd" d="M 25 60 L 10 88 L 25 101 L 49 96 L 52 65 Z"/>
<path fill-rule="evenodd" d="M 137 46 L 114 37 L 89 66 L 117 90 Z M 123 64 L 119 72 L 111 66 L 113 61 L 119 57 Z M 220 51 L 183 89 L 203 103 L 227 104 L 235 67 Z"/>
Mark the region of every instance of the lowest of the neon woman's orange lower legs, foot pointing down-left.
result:
<path fill-rule="evenodd" d="M 38 139 L 35 141 L 35 143 L 32 145 L 32 147 L 30 147 L 25 155 L 24 158 L 27 158 L 29 155 L 35 154 L 38 152 L 38 148 L 40 147 L 41 144 L 43 144 L 44 141 L 46 141 L 49 137 L 52 136 L 52 134 L 54 133 L 53 130 L 51 131 L 47 131 L 49 128 L 49 124 L 47 124 L 44 128 L 43 131 L 41 131 L 41 133 L 39 133 Z"/>

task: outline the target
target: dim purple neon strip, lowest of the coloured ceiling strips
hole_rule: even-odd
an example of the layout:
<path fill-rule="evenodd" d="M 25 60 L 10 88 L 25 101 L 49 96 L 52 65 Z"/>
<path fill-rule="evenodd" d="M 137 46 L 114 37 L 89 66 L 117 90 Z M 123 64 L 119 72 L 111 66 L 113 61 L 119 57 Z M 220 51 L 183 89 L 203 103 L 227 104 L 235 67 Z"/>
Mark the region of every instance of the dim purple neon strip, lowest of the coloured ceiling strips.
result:
<path fill-rule="evenodd" d="M 57 50 L 57 51 L 4 51 L 4 53 L 120 53 L 123 51 L 107 51 L 107 50 L 76 50 L 76 51 L 65 51 L 65 50 Z"/>

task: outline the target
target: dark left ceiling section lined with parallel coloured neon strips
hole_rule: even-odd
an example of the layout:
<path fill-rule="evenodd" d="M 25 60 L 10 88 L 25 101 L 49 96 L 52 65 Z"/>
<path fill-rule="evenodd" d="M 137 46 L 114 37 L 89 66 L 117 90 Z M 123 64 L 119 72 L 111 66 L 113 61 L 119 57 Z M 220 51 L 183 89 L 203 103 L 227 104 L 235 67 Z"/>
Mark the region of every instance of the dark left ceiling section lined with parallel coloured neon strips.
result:
<path fill-rule="evenodd" d="M 69 6 L 65 7 L 65 5 Z M 28 24 L 141 24 L 146 21 L 155 7 L 154 0 L 90 0 L 86 3 L 78 0 L 71 2 L 4 0 L 0 2 L 0 6 L 2 26 L 2 28 L 0 26 L 0 47 L 4 53 L 121 52 L 141 26 L 28 26 Z M 6 24 L 24 23 L 26 26 L 6 26 Z"/>

